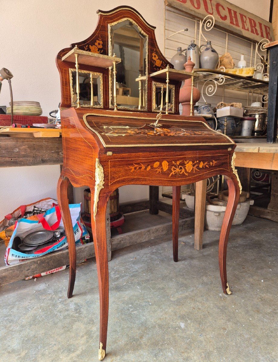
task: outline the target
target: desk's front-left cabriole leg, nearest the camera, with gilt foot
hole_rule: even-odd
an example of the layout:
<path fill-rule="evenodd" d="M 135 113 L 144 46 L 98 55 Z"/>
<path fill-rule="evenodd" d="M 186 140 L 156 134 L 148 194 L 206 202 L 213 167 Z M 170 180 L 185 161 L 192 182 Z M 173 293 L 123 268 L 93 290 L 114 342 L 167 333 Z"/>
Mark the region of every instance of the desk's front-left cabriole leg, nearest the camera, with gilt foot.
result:
<path fill-rule="evenodd" d="M 91 202 L 91 222 L 96 254 L 97 278 L 99 282 L 100 301 L 100 334 L 99 334 L 99 360 L 105 357 L 107 324 L 108 324 L 108 258 L 106 244 L 106 208 L 108 197 L 100 197 L 97 202 L 97 213 L 94 219 L 94 202 Z"/>

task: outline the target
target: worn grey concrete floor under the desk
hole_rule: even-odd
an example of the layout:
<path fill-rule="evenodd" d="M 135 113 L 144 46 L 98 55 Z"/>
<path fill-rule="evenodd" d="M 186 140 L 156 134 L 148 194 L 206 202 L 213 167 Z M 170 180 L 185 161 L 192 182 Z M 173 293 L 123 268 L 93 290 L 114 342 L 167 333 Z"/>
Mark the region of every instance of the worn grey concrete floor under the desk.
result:
<path fill-rule="evenodd" d="M 221 289 L 219 232 L 170 237 L 120 249 L 109 262 L 107 362 L 278 361 L 277 223 L 248 216 L 233 226 Z M 69 271 L 0 289 L 0 361 L 97 361 L 96 263 L 78 266 L 72 299 Z"/>

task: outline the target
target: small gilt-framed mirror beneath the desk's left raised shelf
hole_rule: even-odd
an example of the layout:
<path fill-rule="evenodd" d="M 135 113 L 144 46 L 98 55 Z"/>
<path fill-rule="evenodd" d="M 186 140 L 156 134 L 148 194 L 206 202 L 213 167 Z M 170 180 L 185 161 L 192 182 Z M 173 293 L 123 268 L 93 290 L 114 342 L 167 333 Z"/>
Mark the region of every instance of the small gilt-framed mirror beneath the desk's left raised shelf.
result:
<path fill-rule="evenodd" d="M 102 73 L 78 71 L 80 107 L 103 108 Z M 77 106 L 76 70 L 70 69 L 71 105 Z"/>

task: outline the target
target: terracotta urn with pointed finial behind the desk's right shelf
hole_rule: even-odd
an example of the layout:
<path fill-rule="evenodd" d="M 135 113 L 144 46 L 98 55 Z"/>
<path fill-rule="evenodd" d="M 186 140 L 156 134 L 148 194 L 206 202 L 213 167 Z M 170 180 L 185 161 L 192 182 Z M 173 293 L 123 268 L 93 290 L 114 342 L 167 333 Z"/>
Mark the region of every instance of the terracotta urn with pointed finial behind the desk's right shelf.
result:
<path fill-rule="evenodd" d="M 191 57 L 184 63 L 184 68 L 187 72 L 192 72 L 195 63 L 191 62 Z M 200 91 L 193 87 L 193 108 L 196 102 L 200 99 Z M 179 90 L 179 101 L 182 104 L 182 115 L 190 115 L 190 100 L 191 100 L 191 78 L 184 81 L 183 87 Z M 194 113 L 193 113 L 194 115 Z"/>

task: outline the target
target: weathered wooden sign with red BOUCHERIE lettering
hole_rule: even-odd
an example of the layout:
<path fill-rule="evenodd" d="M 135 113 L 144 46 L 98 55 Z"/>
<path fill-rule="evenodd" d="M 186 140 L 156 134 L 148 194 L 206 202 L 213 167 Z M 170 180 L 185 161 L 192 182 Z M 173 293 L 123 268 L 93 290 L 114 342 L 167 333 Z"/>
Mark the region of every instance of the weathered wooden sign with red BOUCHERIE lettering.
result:
<path fill-rule="evenodd" d="M 215 24 L 230 33 L 259 42 L 274 41 L 272 24 L 226 0 L 165 0 L 171 8 L 182 10 L 196 18 L 213 15 Z"/>

